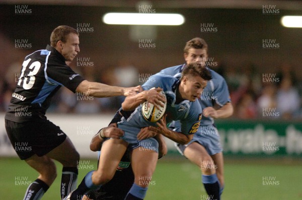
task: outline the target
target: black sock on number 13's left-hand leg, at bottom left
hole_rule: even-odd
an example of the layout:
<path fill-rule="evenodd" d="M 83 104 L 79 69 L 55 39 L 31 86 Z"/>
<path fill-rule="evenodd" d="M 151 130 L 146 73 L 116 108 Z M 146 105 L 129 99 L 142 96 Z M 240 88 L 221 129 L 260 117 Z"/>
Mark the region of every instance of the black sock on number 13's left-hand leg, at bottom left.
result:
<path fill-rule="evenodd" d="M 33 199 L 37 199 L 39 200 L 43 194 L 47 191 L 47 189 L 49 188 L 49 186 L 43 182 L 40 179 L 36 179 L 34 182 L 32 182 L 27 190 L 26 193 L 24 195 L 24 200 L 33 200 Z"/>

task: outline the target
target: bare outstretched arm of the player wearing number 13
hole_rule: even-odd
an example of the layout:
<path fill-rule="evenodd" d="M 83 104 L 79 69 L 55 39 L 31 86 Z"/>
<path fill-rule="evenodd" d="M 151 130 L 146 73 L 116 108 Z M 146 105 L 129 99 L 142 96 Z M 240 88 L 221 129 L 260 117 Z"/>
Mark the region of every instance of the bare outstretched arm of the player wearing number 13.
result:
<path fill-rule="evenodd" d="M 83 92 L 89 96 L 94 97 L 113 97 L 113 96 L 129 96 L 134 95 L 136 92 L 141 92 L 141 86 L 131 87 L 131 88 L 123 88 L 117 86 L 109 86 L 102 83 L 97 82 L 89 82 L 87 80 L 82 81 L 76 92 Z"/>

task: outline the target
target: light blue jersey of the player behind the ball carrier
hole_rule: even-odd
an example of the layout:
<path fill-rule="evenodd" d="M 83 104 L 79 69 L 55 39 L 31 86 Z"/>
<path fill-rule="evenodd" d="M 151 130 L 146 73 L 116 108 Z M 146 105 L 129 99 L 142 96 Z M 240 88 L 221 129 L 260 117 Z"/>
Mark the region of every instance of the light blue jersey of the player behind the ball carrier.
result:
<path fill-rule="evenodd" d="M 162 70 L 158 74 L 170 75 L 179 79 L 185 65 L 186 64 L 171 66 L 170 68 Z M 204 109 L 209 106 L 212 107 L 214 103 L 218 104 L 219 106 L 223 106 L 224 104 L 231 102 L 229 88 L 224 78 L 215 71 L 209 68 L 207 69 L 210 71 L 212 79 L 208 81 L 200 99 L 198 99 L 201 108 Z M 213 123 L 214 119 L 212 117 L 202 116 L 200 121 L 200 125 L 211 125 Z"/>

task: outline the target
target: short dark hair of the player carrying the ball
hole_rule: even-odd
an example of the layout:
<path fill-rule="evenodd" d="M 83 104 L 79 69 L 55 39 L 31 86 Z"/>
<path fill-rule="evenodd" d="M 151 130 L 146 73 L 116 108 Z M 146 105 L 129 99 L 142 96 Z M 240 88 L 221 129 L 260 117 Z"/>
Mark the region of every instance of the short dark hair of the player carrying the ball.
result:
<path fill-rule="evenodd" d="M 206 68 L 201 67 L 196 62 L 192 62 L 185 66 L 184 70 L 181 73 L 180 80 L 182 80 L 186 75 L 200 76 L 205 81 L 209 81 L 212 79 L 210 71 Z"/>

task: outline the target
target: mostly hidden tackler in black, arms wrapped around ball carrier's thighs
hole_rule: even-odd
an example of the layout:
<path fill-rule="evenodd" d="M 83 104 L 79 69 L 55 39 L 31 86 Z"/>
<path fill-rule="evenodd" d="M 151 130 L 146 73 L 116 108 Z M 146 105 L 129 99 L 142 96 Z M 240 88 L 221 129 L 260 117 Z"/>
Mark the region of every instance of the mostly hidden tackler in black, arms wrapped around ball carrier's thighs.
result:
<path fill-rule="evenodd" d="M 131 111 L 125 112 L 123 110 L 118 110 L 114 118 L 110 122 L 108 127 L 103 128 L 103 134 L 105 138 L 120 138 L 124 135 L 124 131 L 117 127 L 117 122 L 119 122 L 122 116 L 128 118 L 131 115 Z M 148 135 L 148 137 L 155 137 L 159 143 L 159 159 L 167 154 L 167 146 L 165 140 L 161 134 L 149 130 L 148 127 L 141 129 L 137 137 L 141 135 Z M 100 151 L 102 143 L 105 139 L 100 135 L 100 131 L 92 138 L 90 143 L 90 149 L 92 151 Z M 89 191 L 83 200 L 120 200 L 124 199 L 131 188 L 134 181 L 134 174 L 130 162 L 130 149 L 128 148 L 123 155 L 113 178 L 102 185 L 99 189 Z"/>

